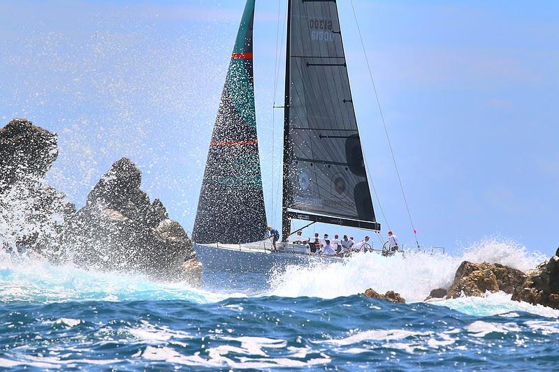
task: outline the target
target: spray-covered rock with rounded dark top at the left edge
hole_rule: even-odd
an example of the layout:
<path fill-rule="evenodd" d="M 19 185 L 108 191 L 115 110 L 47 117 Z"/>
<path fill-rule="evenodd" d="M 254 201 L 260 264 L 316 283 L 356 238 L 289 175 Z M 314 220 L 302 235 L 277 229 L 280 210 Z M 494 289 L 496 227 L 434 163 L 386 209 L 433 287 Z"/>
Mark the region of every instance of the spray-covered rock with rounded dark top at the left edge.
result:
<path fill-rule="evenodd" d="M 45 184 L 57 156 L 57 135 L 27 119 L 0 129 L 1 248 L 27 249 L 50 260 L 61 255 L 59 236 L 75 207 Z"/>

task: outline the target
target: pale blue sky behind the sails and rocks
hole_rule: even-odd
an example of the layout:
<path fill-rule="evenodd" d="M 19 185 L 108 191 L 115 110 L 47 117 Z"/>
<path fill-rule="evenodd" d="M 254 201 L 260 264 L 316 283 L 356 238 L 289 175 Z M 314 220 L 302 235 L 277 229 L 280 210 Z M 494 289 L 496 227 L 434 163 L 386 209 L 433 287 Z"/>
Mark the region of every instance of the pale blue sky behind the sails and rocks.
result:
<path fill-rule="evenodd" d="M 496 236 L 554 252 L 559 3 L 354 4 L 420 243 L 459 251 Z M 411 244 L 349 0 L 338 6 L 365 158 L 391 229 Z M 129 156 L 150 197 L 189 230 L 243 7 L 242 0 L 2 1 L 0 119 L 24 116 L 59 133 L 61 154 L 48 179 L 78 206 L 112 162 Z M 281 23 L 285 0 L 279 8 Z M 275 225 L 277 9 L 277 1 L 256 1 L 254 45 L 263 181 Z M 385 224 L 378 208 L 377 216 Z"/>

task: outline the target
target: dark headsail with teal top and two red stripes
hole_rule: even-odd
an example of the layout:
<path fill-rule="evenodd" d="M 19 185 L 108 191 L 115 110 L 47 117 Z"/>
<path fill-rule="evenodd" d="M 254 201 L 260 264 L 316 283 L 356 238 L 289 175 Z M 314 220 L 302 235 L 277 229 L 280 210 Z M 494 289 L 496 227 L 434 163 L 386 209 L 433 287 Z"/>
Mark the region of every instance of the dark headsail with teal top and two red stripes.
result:
<path fill-rule="evenodd" d="M 249 243 L 266 235 L 252 72 L 254 1 L 247 1 L 242 15 L 212 133 L 196 243 Z"/>

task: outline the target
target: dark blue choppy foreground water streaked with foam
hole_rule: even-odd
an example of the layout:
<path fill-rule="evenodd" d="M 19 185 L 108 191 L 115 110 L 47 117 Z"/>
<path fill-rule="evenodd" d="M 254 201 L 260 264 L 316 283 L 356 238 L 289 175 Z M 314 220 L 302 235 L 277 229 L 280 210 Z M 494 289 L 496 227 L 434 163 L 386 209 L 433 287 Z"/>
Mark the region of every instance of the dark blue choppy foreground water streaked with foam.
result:
<path fill-rule="evenodd" d="M 11 303 L 0 322 L 0 363 L 21 368 L 517 370 L 558 361 L 556 319 L 363 296 Z"/>

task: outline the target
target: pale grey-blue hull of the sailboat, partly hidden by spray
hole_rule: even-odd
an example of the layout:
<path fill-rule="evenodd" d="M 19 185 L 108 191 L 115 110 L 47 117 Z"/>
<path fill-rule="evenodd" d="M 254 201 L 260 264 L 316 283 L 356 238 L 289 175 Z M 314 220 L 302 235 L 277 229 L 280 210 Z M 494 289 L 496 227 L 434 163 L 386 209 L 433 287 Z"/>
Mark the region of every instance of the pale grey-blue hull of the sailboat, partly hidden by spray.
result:
<path fill-rule="evenodd" d="M 308 253 L 306 246 L 277 243 L 272 251 L 270 241 L 252 244 L 194 244 L 204 270 L 252 271 L 268 273 L 288 265 L 309 266 L 342 262 L 340 257 Z"/>

